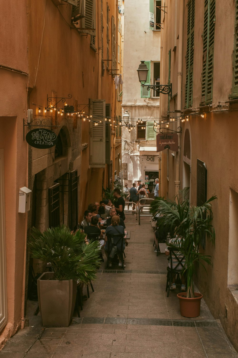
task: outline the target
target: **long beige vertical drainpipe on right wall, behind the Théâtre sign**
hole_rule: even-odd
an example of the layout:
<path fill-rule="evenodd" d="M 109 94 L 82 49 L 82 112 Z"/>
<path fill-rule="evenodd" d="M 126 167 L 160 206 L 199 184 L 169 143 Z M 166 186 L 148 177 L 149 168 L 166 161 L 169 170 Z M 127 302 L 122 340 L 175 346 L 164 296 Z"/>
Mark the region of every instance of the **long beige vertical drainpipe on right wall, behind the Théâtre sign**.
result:
<path fill-rule="evenodd" d="M 180 13 L 179 13 L 179 53 L 178 53 L 178 101 L 177 110 L 182 108 L 182 69 L 183 69 L 183 25 L 184 25 L 184 1 L 180 2 Z M 178 113 L 180 115 L 180 113 Z M 178 127 L 181 125 L 180 120 L 178 121 Z M 176 154 L 175 163 L 175 195 L 179 196 L 180 188 L 180 157 L 181 157 L 181 133 L 178 133 L 178 153 Z"/>

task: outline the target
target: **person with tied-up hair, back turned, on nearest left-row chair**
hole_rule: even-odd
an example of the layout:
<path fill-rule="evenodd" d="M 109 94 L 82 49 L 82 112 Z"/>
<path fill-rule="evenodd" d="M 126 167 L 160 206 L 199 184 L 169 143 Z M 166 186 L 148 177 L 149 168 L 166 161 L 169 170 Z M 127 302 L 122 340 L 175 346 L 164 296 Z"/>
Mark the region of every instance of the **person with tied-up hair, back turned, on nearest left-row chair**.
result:
<path fill-rule="evenodd" d="M 106 234 L 106 237 L 105 237 L 106 245 L 104 247 L 104 250 L 105 250 L 106 256 L 108 257 L 108 253 L 110 255 L 110 252 L 111 252 L 113 246 L 116 246 L 117 250 L 120 252 L 121 251 L 121 242 L 117 243 L 120 240 L 119 238 L 118 238 L 117 241 L 116 241 L 116 238 L 115 238 L 113 240 L 114 243 L 113 244 L 111 243 L 109 248 L 108 248 L 108 241 L 107 241 L 107 235 L 108 234 L 110 234 L 110 235 L 113 235 L 113 234 L 123 234 L 123 235 L 125 235 L 124 228 L 123 228 L 123 226 L 120 225 L 120 218 L 117 215 L 114 215 L 112 217 L 112 223 L 111 223 L 110 226 L 108 226 L 106 228 L 105 234 Z M 123 245 L 122 245 L 122 250 L 123 251 L 125 250 L 125 246 L 128 246 L 128 242 L 126 241 L 126 239 L 123 240 Z M 126 266 L 125 263 L 123 263 L 123 265 Z M 108 266 L 112 267 L 112 263 L 110 262 Z M 122 266 L 120 258 L 119 258 L 118 266 Z"/>

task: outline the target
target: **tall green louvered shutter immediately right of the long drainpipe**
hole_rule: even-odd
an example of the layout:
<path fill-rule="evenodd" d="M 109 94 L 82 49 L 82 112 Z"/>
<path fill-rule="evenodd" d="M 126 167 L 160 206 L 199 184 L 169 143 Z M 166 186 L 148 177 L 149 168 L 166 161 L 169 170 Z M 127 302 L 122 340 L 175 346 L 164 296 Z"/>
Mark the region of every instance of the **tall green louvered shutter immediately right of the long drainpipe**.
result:
<path fill-rule="evenodd" d="M 194 13 L 195 0 L 190 0 L 188 8 L 187 51 L 186 51 L 186 82 L 185 82 L 185 108 L 193 103 L 193 53 L 194 53 Z"/>

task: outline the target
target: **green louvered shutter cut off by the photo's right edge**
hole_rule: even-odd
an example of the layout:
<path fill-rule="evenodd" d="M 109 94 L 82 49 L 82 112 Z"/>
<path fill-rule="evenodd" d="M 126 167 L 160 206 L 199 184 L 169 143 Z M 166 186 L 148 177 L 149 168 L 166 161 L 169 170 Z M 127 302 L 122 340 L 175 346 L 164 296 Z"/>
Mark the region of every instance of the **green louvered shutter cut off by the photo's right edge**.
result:
<path fill-rule="evenodd" d="M 229 98 L 238 98 L 238 0 L 235 0 L 235 30 L 233 52 L 232 93 Z"/>

